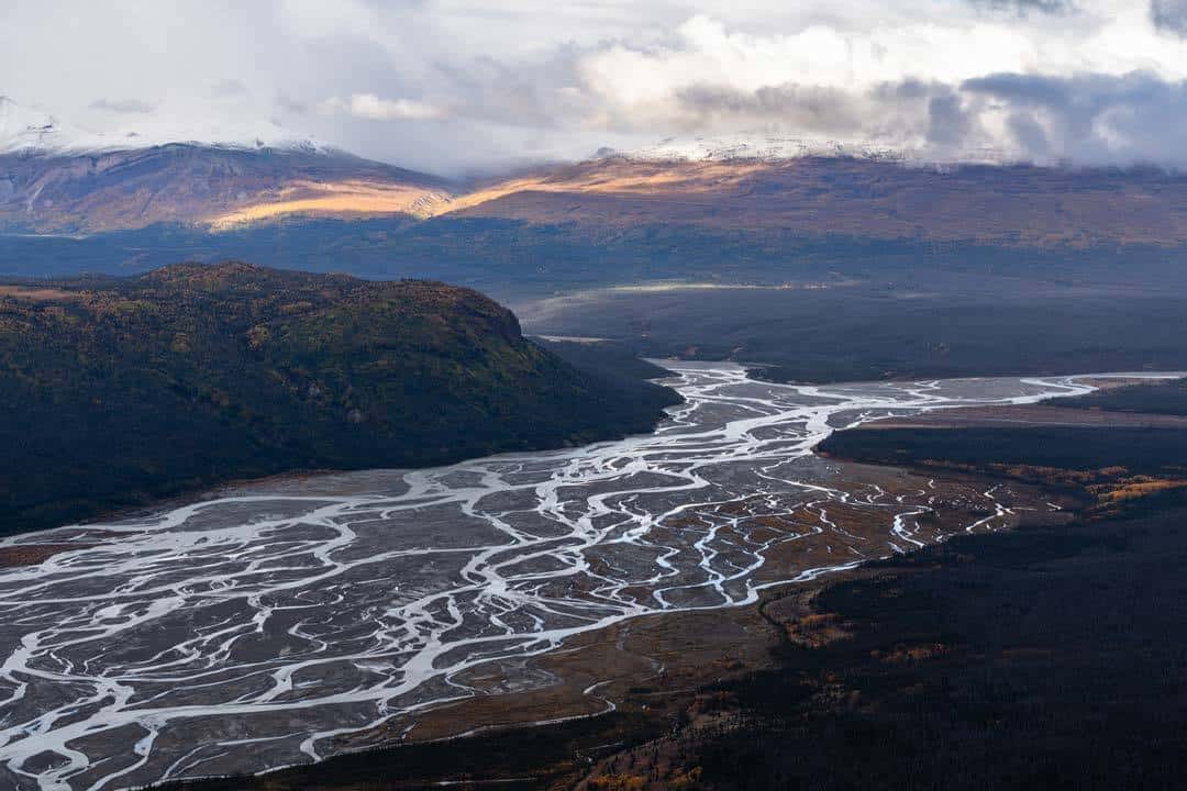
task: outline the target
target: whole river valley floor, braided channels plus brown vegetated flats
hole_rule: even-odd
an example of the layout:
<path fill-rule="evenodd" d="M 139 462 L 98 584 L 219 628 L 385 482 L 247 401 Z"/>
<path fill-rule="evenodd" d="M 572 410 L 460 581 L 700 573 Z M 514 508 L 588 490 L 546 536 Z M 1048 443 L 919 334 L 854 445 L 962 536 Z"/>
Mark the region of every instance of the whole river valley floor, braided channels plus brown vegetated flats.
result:
<path fill-rule="evenodd" d="M 466 752 L 515 725 L 628 723 L 610 747 L 712 727 L 729 707 L 706 688 L 845 631 L 810 613 L 820 580 L 1072 519 L 1047 486 L 811 453 L 875 419 L 1090 389 L 1072 378 L 811 387 L 673 368 L 687 403 L 653 435 L 271 481 L 8 540 L 34 559 L 69 547 L 0 575 L 13 784 L 121 787 L 480 734 Z M 595 747 L 588 766 L 610 751 Z M 450 772 L 433 782 L 466 768 Z"/>

